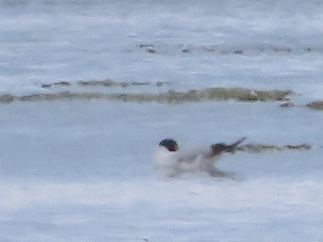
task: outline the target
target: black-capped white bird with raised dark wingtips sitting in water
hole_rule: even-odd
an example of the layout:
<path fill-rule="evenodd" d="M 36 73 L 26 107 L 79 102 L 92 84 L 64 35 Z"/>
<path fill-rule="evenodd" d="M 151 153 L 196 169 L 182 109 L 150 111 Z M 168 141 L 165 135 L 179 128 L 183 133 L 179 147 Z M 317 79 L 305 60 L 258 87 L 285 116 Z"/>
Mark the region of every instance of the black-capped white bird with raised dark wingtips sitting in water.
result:
<path fill-rule="evenodd" d="M 230 145 L 215 143 L 206 149 L 182 150 L 173 138 L 165 138 L 153 156 L 153 169 L 166 177 L 176 177 L 185 173 L 207 173 L 212 177 L 232 178 L 231 173 L 218 170 L 215 164 L 224 154 L 235 154 L 236 148 L 246 137 Z"/>

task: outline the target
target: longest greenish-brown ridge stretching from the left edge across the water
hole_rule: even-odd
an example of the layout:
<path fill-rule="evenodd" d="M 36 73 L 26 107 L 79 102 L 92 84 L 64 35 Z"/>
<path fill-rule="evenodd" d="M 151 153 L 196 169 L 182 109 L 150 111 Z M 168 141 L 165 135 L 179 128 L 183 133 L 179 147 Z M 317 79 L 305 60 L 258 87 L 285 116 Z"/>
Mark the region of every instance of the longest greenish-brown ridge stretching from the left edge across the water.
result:
<path fill-rule="evenodd" d="M 4 94 L 0 96 L 0 103 L 13 101 L 55 101 L 55 100 L 90 100 L 103 99 L 123 102 L 158 102 L 158 103 L 184 103 L 199 101 L 223 101 L 238 100 L 244 102 L 255 101 L 282 101 L 289 100 L 290 90 L 280 91 L 257 91 L 245 88 L 207 88 L 204 90 L 189 90 L 187 92 L 168 91 L 165 93 L 124 93 L 124 94 L 103 94 L 103 93 L 73 93 L 60 92 L 50 94 L 32 94 L 26 96 L 12 96 Z"/>

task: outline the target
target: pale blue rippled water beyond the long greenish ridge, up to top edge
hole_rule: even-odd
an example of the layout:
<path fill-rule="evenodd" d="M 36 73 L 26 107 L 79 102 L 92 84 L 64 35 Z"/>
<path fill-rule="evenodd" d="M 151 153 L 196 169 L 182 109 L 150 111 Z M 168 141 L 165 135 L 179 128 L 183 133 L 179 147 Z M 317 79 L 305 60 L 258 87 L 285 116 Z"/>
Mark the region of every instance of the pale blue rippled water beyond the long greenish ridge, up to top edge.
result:
<path fill-rule="evenodd" d="M 322 76 L 322 9 L 319 1 L 6 1 L 1 90 L 42 92 L 40 84 L 61 79 L 112 78 L 318 96 L 312 85 Z M 155 45 L 158 54 L 140 44 Z M 182 53 L 186 47 L 193 53 Z"/>

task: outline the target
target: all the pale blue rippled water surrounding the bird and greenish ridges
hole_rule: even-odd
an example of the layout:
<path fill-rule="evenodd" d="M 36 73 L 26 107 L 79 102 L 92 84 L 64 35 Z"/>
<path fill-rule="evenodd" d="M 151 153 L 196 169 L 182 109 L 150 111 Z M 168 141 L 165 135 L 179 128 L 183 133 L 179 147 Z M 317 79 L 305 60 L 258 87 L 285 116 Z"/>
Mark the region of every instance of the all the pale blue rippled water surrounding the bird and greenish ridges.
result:
<path fill-rule="evenodd" d="M 305 105 L 322 98 L 322 9 L 319 1 L 3 1 L 0 94 L 221 86 L 291 89 L 291 101 Z M 151 85 L 77 85 L 105 78 Z M 71 85 L 42 87 L 60 80 Z M 1 241 L 321 241 L 323 114 L 279 104 L 1 104 Z M 168 180 L 151 168 L 164 137 L 209 146 L 243 136 L 313 149 L 223 158 L 219 169 L 238 181 Z"/>

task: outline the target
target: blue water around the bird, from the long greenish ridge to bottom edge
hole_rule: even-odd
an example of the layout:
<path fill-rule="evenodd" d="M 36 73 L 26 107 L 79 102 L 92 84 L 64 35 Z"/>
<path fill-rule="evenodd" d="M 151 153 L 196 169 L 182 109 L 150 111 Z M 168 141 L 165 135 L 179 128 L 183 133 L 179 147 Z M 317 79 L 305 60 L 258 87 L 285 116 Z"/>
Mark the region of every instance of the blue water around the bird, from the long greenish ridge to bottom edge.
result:
<path fill-rule="evenodd" d="M 18 102 L 1 109 L 8 241 L 320 238 L 321 112 L 235 102 Z M 247 136 L 314 148 L 224 157 L 218 167 L 238 180 L 165 179 L 153 173 L 151 157 L 167 136 L 182 146 Z"/>

